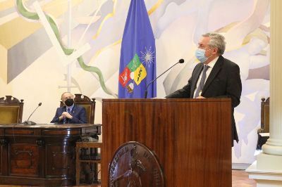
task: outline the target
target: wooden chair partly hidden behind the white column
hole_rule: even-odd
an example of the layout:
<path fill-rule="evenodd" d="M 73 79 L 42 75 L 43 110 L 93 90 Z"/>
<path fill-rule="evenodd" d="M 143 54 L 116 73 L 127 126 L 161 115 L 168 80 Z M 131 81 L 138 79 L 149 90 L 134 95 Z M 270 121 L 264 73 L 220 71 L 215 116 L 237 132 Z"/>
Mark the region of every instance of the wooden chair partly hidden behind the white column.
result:
<path fill-rule="evenodd" d="M 261 103 L 261 128 L 257 129 L 257 150 L 262 149 L 262 145 L 269 138 L 269 98 L 262 98 Z"/>

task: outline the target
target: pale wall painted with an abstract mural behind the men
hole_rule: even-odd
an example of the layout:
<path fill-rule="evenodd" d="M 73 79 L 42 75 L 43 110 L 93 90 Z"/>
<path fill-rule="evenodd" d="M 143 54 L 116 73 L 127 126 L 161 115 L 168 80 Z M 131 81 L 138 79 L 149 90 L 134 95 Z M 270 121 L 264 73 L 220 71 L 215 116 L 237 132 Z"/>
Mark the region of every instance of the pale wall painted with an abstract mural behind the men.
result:
<path fill-rule="evenodd" d="M 16 2 L 20 4 L 20 0 Z M 36 13 L 34 0 L 23 2 L 29 13 Z M 30 120 L 50 122 L 61 93 L 66 91 L 60 86 L 66 86 L 71 75 L 71 86 L 76 86 L 71 89 L 73 93 L 97 98 L 95 122 L 102 123 L 102 98 L 114 98 L 118 92 L 121 37 L 130 1 L 38 2 L 39 9 L 54 18 L 66 48 L 81 52 L 82 46 L 90 44 L 89 51 L 82 51 L 83 62 L 101 70 L 106 87 L 102 89 L 97 73 L 83 69 L 77 60 L 69 65 L 62 60 L 63 53 L 54 46 L 58 40 L 44 28 L 46 22 L 24 18 L 20 14 L 23 8 L 14 0 L 0 0 L 0 96 L 25 100 L 23 120 L 42 102 Z M 233 148 L 233 162 L 252 163 L 260 99 L 269 96 L 269 0 L 145 0 L 145 4 L 156 37 L 157 75 L 180 58 L 186 62 L 158 79 L 158 97 L 188 82 L 198 63 L 194 51 L 201 34 L 221 32 L 226 37 L 223 56 L 240 66 L 243 82 L 241 103 L 235 108 L 240 143 Z"/>

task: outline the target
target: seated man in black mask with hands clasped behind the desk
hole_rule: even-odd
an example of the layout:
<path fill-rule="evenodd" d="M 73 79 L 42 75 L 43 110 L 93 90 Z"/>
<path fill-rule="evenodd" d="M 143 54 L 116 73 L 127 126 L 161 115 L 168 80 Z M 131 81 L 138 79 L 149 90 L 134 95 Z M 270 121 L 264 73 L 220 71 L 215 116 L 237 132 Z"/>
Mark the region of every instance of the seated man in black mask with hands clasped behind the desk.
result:
<path fill-rule="evenodd" d="M 57 108 L 56 115 L 51 123 L 62 124 L 85 124 L 87 123 L 86 110 L 83 107 L 75 105 L 73 94 L 64 92 L 61 95 L 61 101 L 64 106 Z"/>

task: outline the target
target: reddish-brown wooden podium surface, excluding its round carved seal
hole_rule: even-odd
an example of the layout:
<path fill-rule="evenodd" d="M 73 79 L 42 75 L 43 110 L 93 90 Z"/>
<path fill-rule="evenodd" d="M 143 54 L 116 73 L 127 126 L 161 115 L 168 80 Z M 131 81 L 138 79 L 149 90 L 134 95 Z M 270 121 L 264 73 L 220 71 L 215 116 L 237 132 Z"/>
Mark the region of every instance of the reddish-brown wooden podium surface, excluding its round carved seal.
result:
<path fill-rule="evenodd" d="M 123 143 L 156 153 L 166 186 L 232 186 L 231 99 L 103 99 L 102 186 Z"/>

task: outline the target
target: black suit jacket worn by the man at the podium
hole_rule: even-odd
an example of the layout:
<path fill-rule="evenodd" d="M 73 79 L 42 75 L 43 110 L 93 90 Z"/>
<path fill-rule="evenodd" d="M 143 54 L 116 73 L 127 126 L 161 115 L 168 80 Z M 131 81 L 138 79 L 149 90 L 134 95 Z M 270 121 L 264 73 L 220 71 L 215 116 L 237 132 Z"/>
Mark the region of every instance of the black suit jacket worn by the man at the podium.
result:
<path fill-rule="evenodd" d="M 188 84 L 168 96 L 166 98 L 193 98 L 195 87 L 197 86 L 197 80 L 204 67 L 203 63 L 199 63 L 195 66 L 191 78 L 188 80 Z M 240 96 L 242 92 L 242 83 L 240 79 L 240 68 L 237 64 L 231 62 L 223 56 L 219 56 L 216 61 L 212 72 L 204 84 L 202 90 L 202 96 L 204 98 L 231 98 L 232 105 L 232 145 L 233 139 L 238 140 L 238 134 L 236 131 L 234 120 L 234 108 L 240 103 Z"/>

